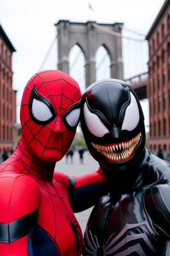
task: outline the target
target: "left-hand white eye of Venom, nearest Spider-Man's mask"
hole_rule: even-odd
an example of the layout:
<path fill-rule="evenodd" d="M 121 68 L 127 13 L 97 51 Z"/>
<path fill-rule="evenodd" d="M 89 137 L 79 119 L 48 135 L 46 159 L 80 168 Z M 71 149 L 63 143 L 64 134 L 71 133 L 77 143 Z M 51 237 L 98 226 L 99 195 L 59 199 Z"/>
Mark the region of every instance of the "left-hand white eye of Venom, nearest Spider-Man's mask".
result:
<path fill-rule="evenodd" d="M 109 133 L 107 127 L 104 126 L 99 117 L 97 117 L 96 114 L 90 112 L 86 103 L 84 104 L 83 112 L 87 128 L 93 135 L 101 138 L 106 133 Z"/>

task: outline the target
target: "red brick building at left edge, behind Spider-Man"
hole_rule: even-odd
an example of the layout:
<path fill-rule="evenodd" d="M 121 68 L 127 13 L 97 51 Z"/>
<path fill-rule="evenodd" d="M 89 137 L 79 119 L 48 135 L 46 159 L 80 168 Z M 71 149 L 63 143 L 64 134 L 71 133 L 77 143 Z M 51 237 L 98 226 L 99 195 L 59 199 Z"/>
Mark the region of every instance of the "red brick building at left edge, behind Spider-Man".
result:
<path fill-rule="evenodd" d="M 16 91 L 12 89 L 12 53 L 15 52 L 0 24 L 0 154 L 16 146 Z"/>

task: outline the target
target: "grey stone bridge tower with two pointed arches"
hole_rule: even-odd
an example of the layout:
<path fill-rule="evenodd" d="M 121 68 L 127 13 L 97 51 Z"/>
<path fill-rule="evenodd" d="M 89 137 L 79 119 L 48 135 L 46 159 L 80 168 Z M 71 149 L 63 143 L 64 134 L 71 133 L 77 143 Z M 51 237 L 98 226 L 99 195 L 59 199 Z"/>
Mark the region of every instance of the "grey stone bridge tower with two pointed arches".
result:
<path fill-rule="evenodd" d="M 56 23 L 58 37 L 58 69 L 69 74 L 69 52 L 76 44 L 85 59 L 86 88 L 96 81 L 95 53 L 100 46 L 111 60 L 111 77 L 123 79 L 122 23 L 99 24 L 59 20 Z"/>

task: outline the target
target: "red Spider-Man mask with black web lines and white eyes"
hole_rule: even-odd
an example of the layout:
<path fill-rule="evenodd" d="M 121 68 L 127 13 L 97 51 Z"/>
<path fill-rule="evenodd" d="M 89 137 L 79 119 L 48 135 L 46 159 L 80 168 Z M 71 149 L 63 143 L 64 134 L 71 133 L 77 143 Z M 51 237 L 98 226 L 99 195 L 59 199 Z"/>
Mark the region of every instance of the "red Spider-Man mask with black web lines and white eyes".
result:
<path fill-rule="evenodd" d="M 80 115 L 78 83 L 64 72 L 36 73 L 25 86 L 20 108 L 24 147 L 43 162 L 69 150 Z"/>

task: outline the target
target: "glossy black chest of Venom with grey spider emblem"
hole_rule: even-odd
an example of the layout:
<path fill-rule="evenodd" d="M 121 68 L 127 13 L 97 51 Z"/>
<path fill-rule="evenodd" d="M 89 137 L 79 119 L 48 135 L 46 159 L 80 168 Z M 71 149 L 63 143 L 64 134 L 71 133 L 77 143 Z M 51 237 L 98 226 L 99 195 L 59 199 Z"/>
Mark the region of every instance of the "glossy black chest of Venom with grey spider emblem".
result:
<path fill-rule="evenodd" d="M 103 197 L 88 222 L 83 255 L 160 255 L 163 243 L 141 200 L 125 195 L 113 205 Z"/>

